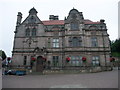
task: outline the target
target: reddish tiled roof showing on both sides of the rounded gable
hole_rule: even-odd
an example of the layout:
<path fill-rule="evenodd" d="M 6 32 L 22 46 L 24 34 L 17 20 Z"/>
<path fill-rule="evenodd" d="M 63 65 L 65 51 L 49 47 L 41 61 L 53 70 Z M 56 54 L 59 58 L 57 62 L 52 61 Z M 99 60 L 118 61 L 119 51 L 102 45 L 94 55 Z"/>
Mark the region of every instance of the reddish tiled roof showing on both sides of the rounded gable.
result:
<path fill-rule="evenodd" d="M 64 25 L 64 20 L 46 20 L 42 22 L 44 25 Z M 100 22 L 93 22 L 89 19 L 85 19 L 84 24 L 100 24 Z"/>

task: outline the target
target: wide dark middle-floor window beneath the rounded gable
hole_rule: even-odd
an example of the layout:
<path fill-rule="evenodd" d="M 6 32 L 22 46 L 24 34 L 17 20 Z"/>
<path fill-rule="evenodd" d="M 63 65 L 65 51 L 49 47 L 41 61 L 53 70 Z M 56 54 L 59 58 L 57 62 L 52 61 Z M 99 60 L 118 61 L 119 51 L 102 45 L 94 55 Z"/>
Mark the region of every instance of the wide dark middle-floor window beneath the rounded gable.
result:
<path fill-rule="evenodd" d="M 79 47 L 82 45 L 81 37 L 69 37 L 69 46 L 70 47 Z"/>

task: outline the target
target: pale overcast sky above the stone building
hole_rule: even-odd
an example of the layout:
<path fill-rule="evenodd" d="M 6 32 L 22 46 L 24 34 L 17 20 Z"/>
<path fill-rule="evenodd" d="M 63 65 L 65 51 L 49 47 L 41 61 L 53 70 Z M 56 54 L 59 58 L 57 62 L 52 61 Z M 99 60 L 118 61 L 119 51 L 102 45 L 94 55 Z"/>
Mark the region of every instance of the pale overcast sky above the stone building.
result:
<path fill-rule="evenodd" d="M 33 7 L 38 11 L 40 20 L 48 20 L 49 15 L 58 15 L 60 20 L 64 20 L 73 7 L 83 12 L 85 19 L 104 19 L 110 40 L 115 40 L 118 38 L 118 2 L 119 0 L 0 0 L 0 49 L 7 56 L 12 56 L 17 14 L 23 14 L 23 21 Z"/>

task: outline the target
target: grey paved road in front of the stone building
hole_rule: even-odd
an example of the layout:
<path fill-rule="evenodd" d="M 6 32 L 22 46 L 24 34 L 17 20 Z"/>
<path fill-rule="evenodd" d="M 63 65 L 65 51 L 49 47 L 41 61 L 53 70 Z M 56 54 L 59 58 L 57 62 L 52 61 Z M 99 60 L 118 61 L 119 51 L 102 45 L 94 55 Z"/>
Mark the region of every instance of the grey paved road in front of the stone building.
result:
<path fill-rule="evenodd" d="M 59 75 L 3 75 L 3 88 L 118 88 L 118 70 Z"/>

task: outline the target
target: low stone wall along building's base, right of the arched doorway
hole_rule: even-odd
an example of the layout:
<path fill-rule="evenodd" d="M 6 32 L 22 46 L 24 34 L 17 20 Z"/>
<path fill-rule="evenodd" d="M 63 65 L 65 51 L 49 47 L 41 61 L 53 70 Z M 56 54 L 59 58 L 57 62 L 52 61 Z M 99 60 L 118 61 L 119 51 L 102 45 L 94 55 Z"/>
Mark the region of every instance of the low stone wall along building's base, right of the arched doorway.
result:
<path fill-rule="evenodd" d="M 46 74 L 77 74 L 77 73 L 97 73 L 102 71 L 111 71 L 112 67 L 82 67 L 82 68 L 63 68 L 63 69 L 45 69 L 43 75 Z M 34 73 L 34 72 L 33 72 Z"/>

